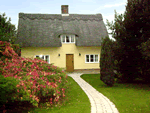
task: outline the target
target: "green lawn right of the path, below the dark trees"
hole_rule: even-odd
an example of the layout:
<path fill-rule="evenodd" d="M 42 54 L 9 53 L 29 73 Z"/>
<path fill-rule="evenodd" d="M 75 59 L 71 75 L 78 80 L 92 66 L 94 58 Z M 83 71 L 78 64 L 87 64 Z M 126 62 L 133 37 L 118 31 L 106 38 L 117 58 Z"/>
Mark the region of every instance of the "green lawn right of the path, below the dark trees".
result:
<path fill-rule="evenodd" d="M 107 87 L 100 74 L 83 74 L 81 78 L 109 98 L 120 113 L 150 113 L 150 84 L 115 83 Z"/>

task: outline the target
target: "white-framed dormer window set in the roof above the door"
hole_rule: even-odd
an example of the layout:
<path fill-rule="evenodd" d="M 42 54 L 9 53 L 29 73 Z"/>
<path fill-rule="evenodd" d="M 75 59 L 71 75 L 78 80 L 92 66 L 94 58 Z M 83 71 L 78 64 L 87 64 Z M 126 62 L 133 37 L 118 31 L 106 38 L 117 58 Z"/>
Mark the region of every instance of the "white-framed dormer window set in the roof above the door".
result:
<path fill-rule="evenodd" d="M 75 35 L 61 35 L 62 43 L 75 43 Z"/>

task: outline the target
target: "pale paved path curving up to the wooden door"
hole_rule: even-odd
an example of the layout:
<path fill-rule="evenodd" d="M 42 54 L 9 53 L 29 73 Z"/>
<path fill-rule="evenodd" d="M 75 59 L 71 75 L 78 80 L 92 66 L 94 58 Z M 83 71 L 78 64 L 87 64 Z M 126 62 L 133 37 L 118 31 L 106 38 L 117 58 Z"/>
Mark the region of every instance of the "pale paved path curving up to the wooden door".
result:
<path fill-rule="evenodd" d="M 71 76 L 87 94 L 91 103 L 91 113 L 119 113 L 115 105 L 103 94 L 99 93 L 80 76 L 82 73 L 68 74 Z"/>

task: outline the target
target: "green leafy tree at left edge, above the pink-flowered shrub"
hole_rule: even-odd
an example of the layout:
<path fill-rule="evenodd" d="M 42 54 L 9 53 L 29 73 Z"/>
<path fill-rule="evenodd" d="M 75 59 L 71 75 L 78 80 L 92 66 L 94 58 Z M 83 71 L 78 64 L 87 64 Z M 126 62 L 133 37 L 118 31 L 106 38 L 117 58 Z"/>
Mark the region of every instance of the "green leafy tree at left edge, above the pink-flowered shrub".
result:
<path fill-rule="evenodd" d="M 0 41 L 7 41 L 13 44 L 16 34 L 16 28 L 15 25 L 11 24 L 11 18 L 7 21 L 5 13 L 0 15 Z"/>

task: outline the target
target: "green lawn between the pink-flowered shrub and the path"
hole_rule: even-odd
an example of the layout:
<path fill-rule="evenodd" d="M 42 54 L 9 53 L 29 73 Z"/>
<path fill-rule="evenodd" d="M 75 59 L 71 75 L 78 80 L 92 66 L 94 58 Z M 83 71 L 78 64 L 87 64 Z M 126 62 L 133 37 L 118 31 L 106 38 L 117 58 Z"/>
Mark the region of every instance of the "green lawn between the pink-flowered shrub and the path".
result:
<path fill-rule="evenodd" d="M 90 101 L 85 92 L 80 86 L 68 76 L 69 88 L 67 89 L 67 99 L 60 107 L 53 107 L 52 109 L 32 109 L 30 113 L 90 113 Z"/>

